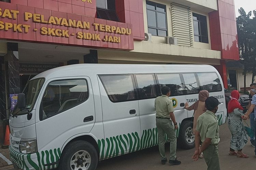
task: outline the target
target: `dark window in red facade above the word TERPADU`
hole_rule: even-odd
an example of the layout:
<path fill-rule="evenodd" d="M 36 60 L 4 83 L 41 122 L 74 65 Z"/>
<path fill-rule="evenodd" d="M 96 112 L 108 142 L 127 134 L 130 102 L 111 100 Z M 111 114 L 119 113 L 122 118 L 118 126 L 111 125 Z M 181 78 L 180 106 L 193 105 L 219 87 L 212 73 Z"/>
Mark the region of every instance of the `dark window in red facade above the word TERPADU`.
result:
<path fill-rule="evenodd" d="M 97 18 L 119 22 L 115 11 L 115 0 L 97 0 L 96 6 Z"/>

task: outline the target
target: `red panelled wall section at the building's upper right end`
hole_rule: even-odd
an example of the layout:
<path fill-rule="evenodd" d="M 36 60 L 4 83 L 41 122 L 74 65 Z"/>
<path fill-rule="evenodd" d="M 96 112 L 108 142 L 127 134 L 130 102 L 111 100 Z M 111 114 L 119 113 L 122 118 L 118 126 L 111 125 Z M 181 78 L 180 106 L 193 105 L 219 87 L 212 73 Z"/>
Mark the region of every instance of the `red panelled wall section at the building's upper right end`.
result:
<path fill-rule="evenodd" d="M 239 60 L 234 1 L 218 0 L 218 11 L 209 13 L 209 21 L 212 49 L 221 51 L 224 60 Z"/>

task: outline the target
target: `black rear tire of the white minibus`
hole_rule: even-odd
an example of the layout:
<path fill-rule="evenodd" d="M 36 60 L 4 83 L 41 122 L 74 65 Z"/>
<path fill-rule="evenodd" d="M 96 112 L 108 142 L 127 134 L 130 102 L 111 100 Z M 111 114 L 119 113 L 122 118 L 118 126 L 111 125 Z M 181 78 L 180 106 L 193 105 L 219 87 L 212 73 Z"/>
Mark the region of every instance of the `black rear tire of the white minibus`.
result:
<path fill-rule="evenodd" d="M 188 131 L 189 129 L 191 129 L 191 131 L 193 130 L 193 121 L 184 120 L 180 126 L 180 134 L 179 134 L 179 138 L 178 138 L 179 148 L 193 149 L 195 147 L 195 137 L 194 137 L 193 143 L 188 142 L 186 139 L 186 134 L 187 134 L 187 136 L 190 136 L 190 137 L 191 137 L 191 135 L 193 135 L 193 132 L 191 134 L 191 131 Z"/>

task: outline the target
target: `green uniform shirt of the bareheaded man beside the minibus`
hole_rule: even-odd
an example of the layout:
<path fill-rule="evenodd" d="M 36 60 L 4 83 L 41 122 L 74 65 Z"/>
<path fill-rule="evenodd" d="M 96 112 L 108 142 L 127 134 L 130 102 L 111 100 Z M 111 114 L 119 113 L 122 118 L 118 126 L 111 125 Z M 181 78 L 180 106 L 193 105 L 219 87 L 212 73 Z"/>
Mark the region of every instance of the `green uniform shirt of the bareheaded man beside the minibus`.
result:
<path fill-rule="evenodd" d="M 156 117 L 170 118 L 170 112 L 174 112 L 172 100 L 162 95 L 155 100 Z"/>

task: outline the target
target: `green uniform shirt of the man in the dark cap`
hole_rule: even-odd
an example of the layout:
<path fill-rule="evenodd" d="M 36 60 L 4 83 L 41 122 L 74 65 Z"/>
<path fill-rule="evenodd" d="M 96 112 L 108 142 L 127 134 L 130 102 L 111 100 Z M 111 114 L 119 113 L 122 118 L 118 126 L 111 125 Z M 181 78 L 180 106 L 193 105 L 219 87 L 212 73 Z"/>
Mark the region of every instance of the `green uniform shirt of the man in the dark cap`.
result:
<path fill-rule="evenodd" d="M 205 138 L 210 138 L 212 139 L 211 145 L 217 145 L 219 143 L 218 119 L 213 112 L 207 110 L 198 117 L 197 131 L 200 132 L 201 142 L 204 142 Z"/>

